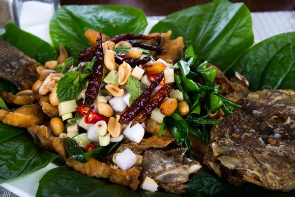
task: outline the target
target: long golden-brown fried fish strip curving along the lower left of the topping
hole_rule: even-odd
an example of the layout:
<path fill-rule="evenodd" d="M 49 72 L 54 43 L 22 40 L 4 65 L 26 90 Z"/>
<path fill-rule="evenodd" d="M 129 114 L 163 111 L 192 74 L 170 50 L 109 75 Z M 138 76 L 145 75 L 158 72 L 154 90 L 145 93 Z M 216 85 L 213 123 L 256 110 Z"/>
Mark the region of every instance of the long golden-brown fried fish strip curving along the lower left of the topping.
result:
<path fill-rule="evenodd" d="M 137 189 L 139 184 L 138 177 L 140 176 L 140 169 L 138 167 L 132 167 L 127 171 L 123 171 L 118 169 L 116 165 L 102 163 L 91 157 L 87 158 L 89 162 L 81 164 L 67 153 L 64 138 L 54 137 L 46 126 L 33 125 L 29 126 L 28 130 L 38 147 L 58 152 L 65 160 L 65 163 L 75 170 L 87 176 L 109 178 L 111 182 L 129 186 L 134 191 Z"/>

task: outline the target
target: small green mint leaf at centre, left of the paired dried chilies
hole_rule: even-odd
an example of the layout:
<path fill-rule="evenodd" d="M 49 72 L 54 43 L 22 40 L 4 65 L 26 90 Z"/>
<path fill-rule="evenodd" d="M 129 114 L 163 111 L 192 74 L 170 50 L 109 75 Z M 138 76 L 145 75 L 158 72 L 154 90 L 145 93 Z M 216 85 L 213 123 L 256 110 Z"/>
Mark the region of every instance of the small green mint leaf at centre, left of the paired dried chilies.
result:
<path fill-rule="evenodd" d="M 131 95 L 129 98 L 129 103 L 131 104 L 135 99 L 137 99 L 146 89 L 148 86 L 143 84 L 140 81 L 137 81 L 133 77 L 128 78 L 126 89 L 128 93 Z"/>

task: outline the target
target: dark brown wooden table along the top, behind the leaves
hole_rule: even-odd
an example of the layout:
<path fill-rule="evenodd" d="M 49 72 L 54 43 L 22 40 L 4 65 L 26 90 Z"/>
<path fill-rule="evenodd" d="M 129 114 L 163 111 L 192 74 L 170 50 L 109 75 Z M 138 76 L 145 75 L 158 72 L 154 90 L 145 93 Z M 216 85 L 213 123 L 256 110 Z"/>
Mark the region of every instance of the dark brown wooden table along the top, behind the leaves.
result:
<path fill-rule="evenodd" d="M 164 16 L 211 0 L 60 0 L 66 4 L 112 4 L 138 7 L 147 16 Z M 295 0 L 231 0 L 244 2 L 251 12 L 295 10 Z"/>

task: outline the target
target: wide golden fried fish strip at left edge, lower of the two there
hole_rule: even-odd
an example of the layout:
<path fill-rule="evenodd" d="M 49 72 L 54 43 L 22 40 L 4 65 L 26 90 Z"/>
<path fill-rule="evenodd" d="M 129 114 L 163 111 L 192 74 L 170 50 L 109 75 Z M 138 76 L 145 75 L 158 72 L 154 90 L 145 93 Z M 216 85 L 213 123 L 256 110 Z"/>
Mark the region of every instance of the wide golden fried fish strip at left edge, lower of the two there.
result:
<path fill-rule="evenodd" d="M 43 112 L 39 104 L 22 106 L 15 111 L 0 110 L 0 121 L 15 127 L 28 127 L 29 125 L 41 125 Z"/>

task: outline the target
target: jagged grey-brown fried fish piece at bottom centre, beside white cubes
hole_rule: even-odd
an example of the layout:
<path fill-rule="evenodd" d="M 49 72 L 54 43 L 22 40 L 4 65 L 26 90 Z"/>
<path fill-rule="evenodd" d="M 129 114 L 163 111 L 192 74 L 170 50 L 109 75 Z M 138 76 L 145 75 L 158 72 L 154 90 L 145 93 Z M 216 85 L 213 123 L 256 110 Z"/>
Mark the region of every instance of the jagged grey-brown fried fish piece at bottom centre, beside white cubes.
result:
<path fill-rule="evenodd" d="M 202 166 L 199 162 L 185 157 L 187 148 L 170 151 L 148 149 L 143 157 L 142 177 L 152 178 L 160 188 L 175 195 L 185 192 L 188 176 Z"/>

